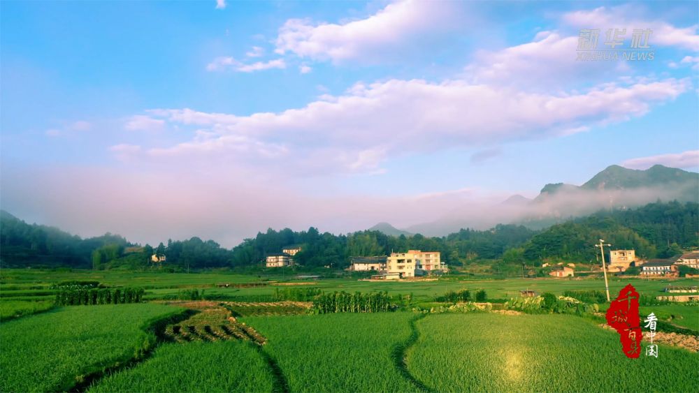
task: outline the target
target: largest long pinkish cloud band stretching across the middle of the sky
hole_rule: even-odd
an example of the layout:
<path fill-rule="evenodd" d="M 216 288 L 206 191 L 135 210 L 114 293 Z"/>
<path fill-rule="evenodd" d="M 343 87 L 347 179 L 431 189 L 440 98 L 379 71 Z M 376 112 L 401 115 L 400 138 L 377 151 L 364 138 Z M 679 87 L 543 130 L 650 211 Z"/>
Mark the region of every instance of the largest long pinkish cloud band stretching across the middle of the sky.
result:
<path fill-rule="evenodd" d="M 239 165 L 283 163 L 296 172 L 376 172 L 388 156 L 554 138 L 639 117 L 689 86 L 688 80 L 670 78 L 540 94 L 461 80 L 356 84 L 342 96 L 280 113 L 150 110 L 168 122 L 196 126 L 206 138 L 195 135 L 147 154 L 204 161 L 227 156 Z"/>

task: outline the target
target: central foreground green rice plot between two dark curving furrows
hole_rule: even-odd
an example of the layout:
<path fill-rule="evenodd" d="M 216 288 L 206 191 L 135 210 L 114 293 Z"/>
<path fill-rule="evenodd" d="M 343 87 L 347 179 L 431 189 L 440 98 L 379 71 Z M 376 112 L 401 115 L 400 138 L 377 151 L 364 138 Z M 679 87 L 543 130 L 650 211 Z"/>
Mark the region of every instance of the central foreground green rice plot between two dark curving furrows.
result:
<path fill-rule="evenodd" d="M 291 392 L 416 390 L 394 365 L 413 313 L 354 313 L 243 318 L 267 337 Z"/>

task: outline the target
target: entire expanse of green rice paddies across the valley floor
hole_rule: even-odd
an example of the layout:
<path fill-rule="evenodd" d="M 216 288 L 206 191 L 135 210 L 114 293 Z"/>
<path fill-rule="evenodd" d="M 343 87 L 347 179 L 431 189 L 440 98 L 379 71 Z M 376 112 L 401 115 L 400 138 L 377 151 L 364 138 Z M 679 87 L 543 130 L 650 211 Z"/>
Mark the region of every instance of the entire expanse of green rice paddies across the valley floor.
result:
<path fill-rule="evenodd" d="M 598 320 L 570 315 L 397 311 L 247 316 L 239 322 L 263 336 L 264 346 L 234 334 L 226 339 L 203 335 L 199 341 L 167 342 L 159 329 L 168 321 L 189 318 L 183 309 L 155 303 L 52 307 L 52 295 L 43 292 L 52 292 L 52 283 L 70 279 L 112 286 L 138 282 L 150 288 L 151 299 L 180 288 L 223 296 L 269 296 L 276 288 L 215 286 L 261 282 L 257 276 L 231 274 L 55 276 L 3 271 L 0 391 L 694 392 L 699 380 L 698 353 L 661 344 L 657 359 L 644 355 L 627 359 L 616 332 L 598 327 Z M 649 295 L 661 295 L 668 284 L 614 279 L 610 286 L 618 291 L 628 282 Z M 691 280 L 672 283 L 696 285 Z M 568 289 L 600 289 L 600 280 L 328 279 L 312 287 L 388 290 L 412 293 L 415 302 L 432 302 L 435 295 L 463 288 L 484 288 L 489 298 L 503 299 L 524 288 L 559 295 Z M 697 306 L 644 306 L 640 311 L 699 331 Z"/>

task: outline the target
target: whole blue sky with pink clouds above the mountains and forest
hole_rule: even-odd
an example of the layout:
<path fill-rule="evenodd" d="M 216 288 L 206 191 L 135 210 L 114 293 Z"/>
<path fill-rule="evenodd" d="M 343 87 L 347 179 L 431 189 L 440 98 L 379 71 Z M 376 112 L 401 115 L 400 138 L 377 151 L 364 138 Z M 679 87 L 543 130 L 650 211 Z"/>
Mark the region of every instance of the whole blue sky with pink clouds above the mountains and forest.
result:
<path fill-rule="evenodd" d="M 405 228 L 613 164 L 699 171 L 696 1 L 0 11 L 0 205 L 83 237 L 230 247 Z M 580 59 L 583 30 L 619 59 Z"/>

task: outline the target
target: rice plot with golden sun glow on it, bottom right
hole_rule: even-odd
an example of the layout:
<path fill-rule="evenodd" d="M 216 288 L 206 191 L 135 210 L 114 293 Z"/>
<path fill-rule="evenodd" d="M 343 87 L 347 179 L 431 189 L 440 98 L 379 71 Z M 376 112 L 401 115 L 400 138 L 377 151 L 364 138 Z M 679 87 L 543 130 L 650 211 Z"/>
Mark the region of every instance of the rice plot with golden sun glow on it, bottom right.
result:
<path fill-rule="evenodd" d="M 575 316 L 440 314 L 417 322 L 408 368 L 439 392 L 696 391 L 699 355 L 628 359 L 619 335 Z"/>

